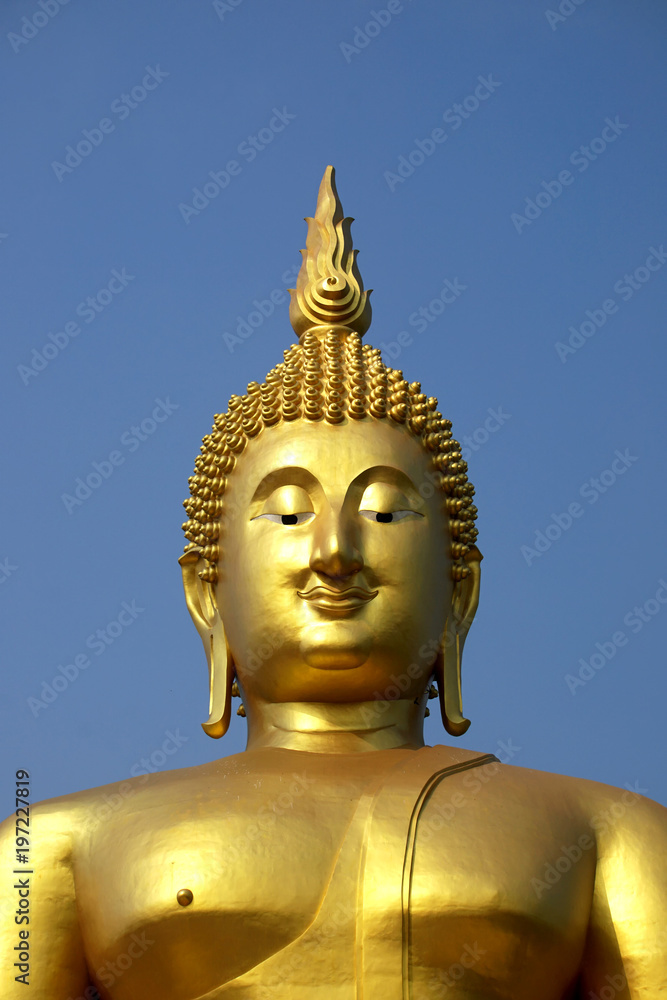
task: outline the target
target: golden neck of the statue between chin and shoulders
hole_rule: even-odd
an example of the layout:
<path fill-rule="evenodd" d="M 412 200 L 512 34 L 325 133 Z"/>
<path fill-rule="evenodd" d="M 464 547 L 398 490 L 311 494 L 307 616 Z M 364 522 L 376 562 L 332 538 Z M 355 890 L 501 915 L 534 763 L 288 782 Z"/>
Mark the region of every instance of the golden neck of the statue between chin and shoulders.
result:
<path fill-rule="evenodd" d="M 424 708 L 412 701 L 246 704 L 248 750 L 283 747 L 310 753 L 358 753 L 424 746 Z"/>

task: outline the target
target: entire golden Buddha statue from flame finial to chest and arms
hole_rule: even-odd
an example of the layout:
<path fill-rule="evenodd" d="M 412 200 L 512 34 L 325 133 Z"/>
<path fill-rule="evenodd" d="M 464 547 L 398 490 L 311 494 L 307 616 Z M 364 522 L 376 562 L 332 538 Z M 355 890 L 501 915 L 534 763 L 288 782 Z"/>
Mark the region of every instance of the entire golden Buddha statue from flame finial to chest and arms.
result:
<path fill-rule="evenodd" d="M 2 998 L 657 1000 L 662 807 L 424 745 L 436 686 L 469 725 L 473 488 L 437 401 L 362 345 L 330 167 L 303 253 L 299 343 L 215 417 L 185 503 L 204 729 L 240 695 L 247 749 L 42 803 L 29 875 L 7 821 Z"/>

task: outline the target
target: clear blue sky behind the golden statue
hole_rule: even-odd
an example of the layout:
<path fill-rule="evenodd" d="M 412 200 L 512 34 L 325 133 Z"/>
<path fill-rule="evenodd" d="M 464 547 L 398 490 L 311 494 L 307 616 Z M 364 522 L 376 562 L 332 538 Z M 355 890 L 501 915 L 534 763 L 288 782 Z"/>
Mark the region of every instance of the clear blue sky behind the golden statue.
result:
<path fill-rule="evenodd" d="M 327 163 L 368 339 L 471 442 L 463 743 L 667 802 L 664 3 L 57 2 L 0 14 L 0 812 L 17 767 L 45 798 L 167 731 L 159 767 L 242 748 L 243 720 L 199 725 L 181 501 L 213 413 L 291 342 L 285 306 L 234 337 L 292 282 Z"/>

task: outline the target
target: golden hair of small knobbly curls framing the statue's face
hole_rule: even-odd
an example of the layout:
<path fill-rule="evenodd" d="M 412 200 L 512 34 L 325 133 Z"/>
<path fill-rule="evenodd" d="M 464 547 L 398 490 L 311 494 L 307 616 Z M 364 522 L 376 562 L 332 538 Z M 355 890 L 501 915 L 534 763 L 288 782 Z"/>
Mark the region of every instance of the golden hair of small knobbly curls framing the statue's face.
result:
<path fill-rule="evenodd" d="M 468 574 L 465 555 L 477 538 L 475 490 L 461 445 L 452 437 L 451 420 L 443 419 L 437 406 L 419 382 L 406 382 L 402 371 L 387 368 L 379 350 L 362 345 L 358 333 L 345 327 L 305 332 L 261 385 L 251 382 L 244 396 L 231 397 L 227 413 L 215 415 L 211 433 L 202 439 L 188 480 L 190 497 L 183 502 L 188 515 L 185 551 L 201 550 L 206 564 L 201 578 L 211 583 L 218 578 L 227 478 L 250 439 L 280 420 L 338 424 L 349 418 L 403 424 L 430 454 L 432 481 L 443 493 L 449 516 L 452 576 L 463 579 Z"/>

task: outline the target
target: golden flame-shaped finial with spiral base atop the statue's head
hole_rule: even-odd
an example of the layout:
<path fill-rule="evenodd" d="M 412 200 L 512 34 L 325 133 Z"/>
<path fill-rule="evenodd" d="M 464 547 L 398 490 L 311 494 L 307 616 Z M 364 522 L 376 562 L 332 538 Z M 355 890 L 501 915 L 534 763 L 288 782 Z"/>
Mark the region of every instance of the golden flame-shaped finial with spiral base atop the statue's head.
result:
<path fill-rule="evenodd" d="M 290 289 L 290 321 L 301 338 L 318 327 L 344 327 L 362 336 L 371 324 L 370 291 L 364 291 L 350 225 L 336 191 L 334 168 L 324 171 L 315 217 L 307 218 L 306 249 Z M 324 332 L 324 331 L 323 331 Z"/>

